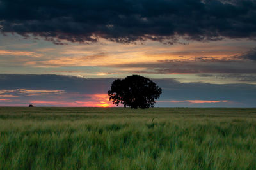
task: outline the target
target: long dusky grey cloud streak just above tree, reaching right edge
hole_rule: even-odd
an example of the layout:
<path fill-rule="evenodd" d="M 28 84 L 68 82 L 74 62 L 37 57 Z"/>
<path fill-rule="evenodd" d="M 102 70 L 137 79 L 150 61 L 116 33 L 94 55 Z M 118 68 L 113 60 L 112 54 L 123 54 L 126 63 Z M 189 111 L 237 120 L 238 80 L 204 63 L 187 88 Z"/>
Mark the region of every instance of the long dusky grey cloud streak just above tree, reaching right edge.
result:
<path fill-rule="evenodd" d="M 209 73 L 256 73 L 256 63 L 246 61 L 225 60 L 212 61 L 170 61 L 159 60 L 155 63 L 116 64 L 109 67 L 117 68 L 144 68 L 141 71 L 133 71 L 136 74 L 209 74 Z"/>

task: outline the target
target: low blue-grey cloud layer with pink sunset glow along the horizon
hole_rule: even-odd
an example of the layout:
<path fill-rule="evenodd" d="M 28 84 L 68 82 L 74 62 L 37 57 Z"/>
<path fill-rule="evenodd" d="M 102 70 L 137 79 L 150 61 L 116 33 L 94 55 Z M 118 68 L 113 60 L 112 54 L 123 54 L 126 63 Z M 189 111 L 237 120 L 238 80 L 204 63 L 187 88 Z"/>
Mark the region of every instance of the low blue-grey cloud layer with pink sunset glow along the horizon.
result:
<path fill-rule="evenodd" d="M 113 106 L 107 94 L 113 80 L 0 74 L 0 106 Z M 255 107 L 256 103 L 255 85 L 180 83 L 173 78 L 152 80 L 163 89 L 157 107 Z"/>

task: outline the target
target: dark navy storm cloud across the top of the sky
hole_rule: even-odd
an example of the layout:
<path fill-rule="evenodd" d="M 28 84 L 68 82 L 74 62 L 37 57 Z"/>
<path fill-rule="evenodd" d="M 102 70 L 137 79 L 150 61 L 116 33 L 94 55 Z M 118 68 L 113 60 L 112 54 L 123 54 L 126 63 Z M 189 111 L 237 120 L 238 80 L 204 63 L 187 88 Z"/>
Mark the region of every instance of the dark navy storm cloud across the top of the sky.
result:
<path fill-rule="evenodd" d="M 256 39 L 256 1 L 0 0 L 1 32 L 33 34 L 56 44 L 152 39 Z"/>

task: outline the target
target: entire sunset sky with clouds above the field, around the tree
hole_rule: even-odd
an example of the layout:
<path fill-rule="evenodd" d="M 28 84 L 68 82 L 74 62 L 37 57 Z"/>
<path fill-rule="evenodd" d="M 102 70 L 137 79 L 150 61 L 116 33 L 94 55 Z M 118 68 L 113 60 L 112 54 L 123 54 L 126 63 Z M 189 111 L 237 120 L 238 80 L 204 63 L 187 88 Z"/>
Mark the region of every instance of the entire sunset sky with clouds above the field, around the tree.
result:
<path fill-rule="evenodd" d="M 0 0 L 0 106 L 114 106 L 132 74 L 156 107 L 256 107 L 256 1 Z"/>

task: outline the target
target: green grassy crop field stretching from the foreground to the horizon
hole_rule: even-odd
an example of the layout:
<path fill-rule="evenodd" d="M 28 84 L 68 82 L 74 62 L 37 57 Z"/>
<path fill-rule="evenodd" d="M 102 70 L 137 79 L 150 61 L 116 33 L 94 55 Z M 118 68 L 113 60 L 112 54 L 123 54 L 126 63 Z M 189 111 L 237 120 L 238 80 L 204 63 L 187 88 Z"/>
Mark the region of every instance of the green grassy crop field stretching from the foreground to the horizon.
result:
<path fill-rule="evenodd" d="M 0 169 L 256 169 L 256 109 L 0 108 Z"/>

